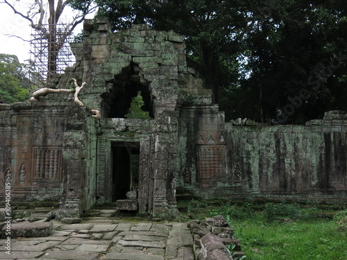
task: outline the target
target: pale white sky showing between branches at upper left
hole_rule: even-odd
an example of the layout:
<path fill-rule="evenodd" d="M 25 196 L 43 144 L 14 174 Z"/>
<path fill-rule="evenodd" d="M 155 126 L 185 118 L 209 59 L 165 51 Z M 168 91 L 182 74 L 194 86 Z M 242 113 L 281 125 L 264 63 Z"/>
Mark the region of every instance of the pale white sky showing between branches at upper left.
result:
<path fill-rule="evenodd" d="M 93 16 L 94 15 L 89 15 L 87 18 L 90 19 Z M 67 6 L 62 14 L 62 17 L 66 17 L 67 20 L 71 20 L 71 8 Z M 74 35 L 81 33 L 82 28 L 83 23 L 78 24 L 74 30 Z M 0 3 L 0 53 L 17 55 L 19 62 L 28 60 L 30 58 L 30 44 L 28 42 L 24 42 L 18 37 L 6 36 L 8 34 L 22 37 L 24 40 L 30 40 L 31 27 L 29 26 L 29 21 L 22 18 L 20 15 L 15 15 L 13 10 L 6 3 Z"/>

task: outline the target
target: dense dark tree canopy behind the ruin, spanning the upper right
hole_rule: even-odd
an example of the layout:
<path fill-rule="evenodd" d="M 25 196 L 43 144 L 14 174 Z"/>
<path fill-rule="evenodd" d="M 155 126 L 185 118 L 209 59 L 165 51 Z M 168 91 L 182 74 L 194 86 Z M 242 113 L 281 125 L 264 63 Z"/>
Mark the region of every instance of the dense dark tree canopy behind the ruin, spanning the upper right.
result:
<path fill-rule="evenodd" d="M 184 35 L 189 66 L 227 120 L 304 123 L 347 110 L 344 0 L 95 2 L 115 30 L 146 23 Z"/>

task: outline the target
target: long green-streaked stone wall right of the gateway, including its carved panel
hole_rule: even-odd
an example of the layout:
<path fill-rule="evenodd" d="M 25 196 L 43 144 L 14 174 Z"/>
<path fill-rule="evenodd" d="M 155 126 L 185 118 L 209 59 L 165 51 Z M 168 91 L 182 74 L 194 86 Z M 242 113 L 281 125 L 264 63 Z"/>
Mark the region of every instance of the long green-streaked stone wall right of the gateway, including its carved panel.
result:
<path fill-rule="evenodd" d="M 327 112 L 306 125 L 219 126 L 218 116 L 199 110 L 189 107 L 181 116 L 182 147 L 193 155 L 181 150 L 182 164 L 193 180 L 180 178 L 178 197 L 346 202 L 346 112 Z M 199 123 L 209 120 L 212 127 Z M 208 129 L 223 136 L 223 143 L 217 144 L 218 136 L 209 137 Z M 200 141 L 194 143 L 194 138 Z"/>

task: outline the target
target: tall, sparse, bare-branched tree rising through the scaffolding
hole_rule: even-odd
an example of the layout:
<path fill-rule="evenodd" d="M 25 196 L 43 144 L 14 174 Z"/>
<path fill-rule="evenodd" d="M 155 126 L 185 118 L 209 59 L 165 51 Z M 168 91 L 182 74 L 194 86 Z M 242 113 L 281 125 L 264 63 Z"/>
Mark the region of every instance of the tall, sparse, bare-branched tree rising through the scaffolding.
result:
<path fill-rule="evenodd" d="M 65 40 L 78 24 L 80 24 L 85 16 L 95 10 L 95 6 L 92 6 L 92 0 L 84 1 L 83 4 L 76 4 L 74 0 L 32 0 L 26 4 L 25 11 L 19 10 L 24 8 L 24 3 L 19 0 L 10 1 L 3 0 L 2 3 L 7 4 L 12 10 L 22 16 L 24 19 L 30 21 L 31 27 L 42 35 L 43 40 L 48 43 L 48 60 L 47 60 L 47 77 L 52 76 L 57 70 L 57 58 L 58 52 L 65 43 Z M 21 5 L 21 6 L 18 6 Z M 75 17 L 72 21 L 65 26 L 63 32 L 58 33 L 57 24 L 64 12 L 66 6 L 78 7 L 82 12 Z M 46 11 L 48 10 L 48 15 Z M 47 18 L 46 18 L 47 17 Z"/>

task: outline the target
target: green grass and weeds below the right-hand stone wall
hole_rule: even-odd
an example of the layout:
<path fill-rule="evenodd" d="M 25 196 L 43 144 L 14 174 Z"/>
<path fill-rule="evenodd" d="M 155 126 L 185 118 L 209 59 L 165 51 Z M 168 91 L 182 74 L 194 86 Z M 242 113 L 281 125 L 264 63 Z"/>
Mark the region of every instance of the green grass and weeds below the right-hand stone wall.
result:
<path fill-rule="evenodd" d="M 183 218 L 208 218 L 221 214 L 242 240 L 242 251 L 249 260 L 347 259 L 347 211 L 319 205 L 266 203 L 232 205 L 231 202 L 198 202 L 185 206 Z M 322 217 L 323 216 L 323 217 Z"/>

